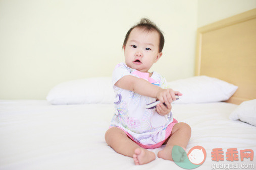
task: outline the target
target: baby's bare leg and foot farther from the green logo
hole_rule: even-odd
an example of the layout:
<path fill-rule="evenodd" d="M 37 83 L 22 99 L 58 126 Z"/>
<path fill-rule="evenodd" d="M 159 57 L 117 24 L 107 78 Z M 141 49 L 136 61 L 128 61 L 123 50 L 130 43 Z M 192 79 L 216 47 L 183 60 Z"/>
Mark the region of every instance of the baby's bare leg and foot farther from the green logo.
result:
<path fill-rule="evenodd" d="M 133 157 L 136 165 L 145 164 L 156 159 L 155 153 L 138 146 L 120 128 L 110 128 L 105 134 L 105 140 L 117 153 Z"/>

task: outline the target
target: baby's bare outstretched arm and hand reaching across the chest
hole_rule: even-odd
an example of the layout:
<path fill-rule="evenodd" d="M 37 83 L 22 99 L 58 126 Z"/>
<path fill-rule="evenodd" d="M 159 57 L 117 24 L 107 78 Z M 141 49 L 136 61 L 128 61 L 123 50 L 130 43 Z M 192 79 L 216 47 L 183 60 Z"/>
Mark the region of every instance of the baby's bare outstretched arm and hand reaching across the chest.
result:
<path fill-rule="evenodd" d="M 157 98 L 161 103 L 165 103 L 167 106 L 176 100 L 175 95 L 182 95 L 180 92 L 173 91 L 172 89 L 162 89 L 142 78 L 132 75 L 123 76 L 115 83 L 115 86 L 143 96 Z"/>

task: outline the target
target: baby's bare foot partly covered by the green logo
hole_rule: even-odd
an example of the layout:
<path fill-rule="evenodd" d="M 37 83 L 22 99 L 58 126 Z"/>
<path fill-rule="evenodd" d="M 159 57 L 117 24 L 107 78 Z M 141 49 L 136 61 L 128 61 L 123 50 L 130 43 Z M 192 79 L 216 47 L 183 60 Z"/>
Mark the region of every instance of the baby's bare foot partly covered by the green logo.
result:
<path fill-rule="evenodd" d="M 158 152 L 158 157 L 166 159 L 166 160 L 172 160 L 173 161 L 172 149 L 173 149 L 173 146 L 165 147 L 163 150 Z M 183 148 L 183 149 L 185 150 L 185 148 Z M 178 158 L 179 161 L 183 161 L 186 156 L 187 156 L 186 154 L 184 155 L 184 154 L 182 154 L 182 152 L 179 152 L 179 153 L 176 154 L 176 159 Z"/>

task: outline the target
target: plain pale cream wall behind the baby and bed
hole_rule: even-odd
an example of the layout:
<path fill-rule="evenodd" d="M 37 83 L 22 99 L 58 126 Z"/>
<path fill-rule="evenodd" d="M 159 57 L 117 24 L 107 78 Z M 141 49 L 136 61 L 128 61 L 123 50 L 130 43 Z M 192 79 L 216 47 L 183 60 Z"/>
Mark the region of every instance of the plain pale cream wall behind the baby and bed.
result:
<path fill-rule="evenodd" d="M 256 0 L 255 0 L 256 1 Z M 111 76 L 128 29 L 148 17 L 163 31 L 152 70 L 194 74 L 197 27 L 255 8 L 249 0 L 0 0 L 0 99 L 45 99 L 56 84 Z"/>

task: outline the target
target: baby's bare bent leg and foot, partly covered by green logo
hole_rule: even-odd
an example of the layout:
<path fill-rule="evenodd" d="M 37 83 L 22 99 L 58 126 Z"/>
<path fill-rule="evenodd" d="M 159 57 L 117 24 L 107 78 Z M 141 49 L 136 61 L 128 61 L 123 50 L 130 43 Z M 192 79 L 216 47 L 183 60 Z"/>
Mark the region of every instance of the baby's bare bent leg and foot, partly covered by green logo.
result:
<path fill-rule="evenodd" d="M 173 126 L 172 133 L 170 135 L 170 138 L 168 139 L 166 143 L 166 147 L 158 152 L 158 157 L 172 160 L 172 149 L 174 145 L 181 146 L 184 150 L 186 150 L 187 143 L 191 136 L 191 128 L 186 123 L 176 123 Z M 178 152 L 177 154 L 180 154 L 181 152 Z M 179 155 L 177 155 L 179 156 Z M 180 160 L 184 159 L 184 156 L 187 155 L 180 155 Z"/>

